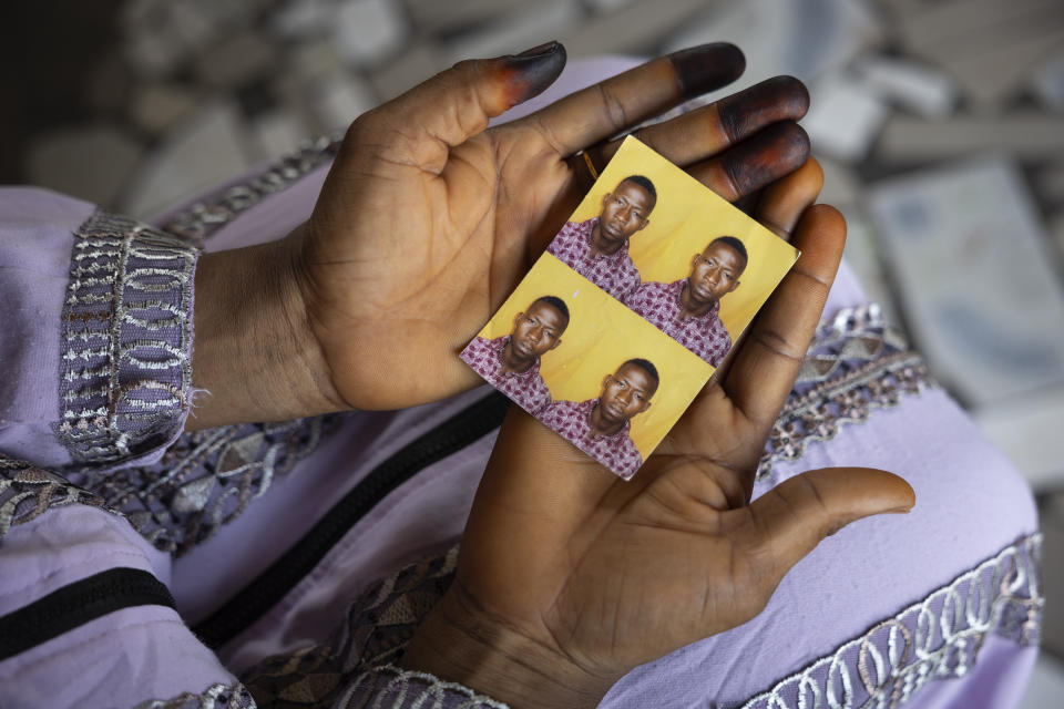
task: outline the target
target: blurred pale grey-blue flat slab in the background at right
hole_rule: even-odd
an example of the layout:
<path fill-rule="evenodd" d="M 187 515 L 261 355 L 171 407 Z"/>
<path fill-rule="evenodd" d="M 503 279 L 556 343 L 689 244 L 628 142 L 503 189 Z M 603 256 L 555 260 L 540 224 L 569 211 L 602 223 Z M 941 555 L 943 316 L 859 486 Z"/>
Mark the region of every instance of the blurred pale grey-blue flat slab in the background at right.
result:
<path fill-rule="evenodd" d="M 910 332 L 937 377 L 976 407 L 1064 382 L 1064 296 L 1010 162 L 980 158 L 868 194 Z"/>

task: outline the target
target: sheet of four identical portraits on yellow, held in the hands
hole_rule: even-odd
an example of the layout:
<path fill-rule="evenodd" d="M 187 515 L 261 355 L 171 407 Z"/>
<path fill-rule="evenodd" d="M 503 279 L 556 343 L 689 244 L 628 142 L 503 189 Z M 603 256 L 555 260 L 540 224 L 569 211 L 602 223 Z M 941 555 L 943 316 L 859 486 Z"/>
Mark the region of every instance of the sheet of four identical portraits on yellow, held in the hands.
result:
<path fill-rule="evenodd" d="M 461 358 L 628 480 L 797 258 L 630 136 Z"/>

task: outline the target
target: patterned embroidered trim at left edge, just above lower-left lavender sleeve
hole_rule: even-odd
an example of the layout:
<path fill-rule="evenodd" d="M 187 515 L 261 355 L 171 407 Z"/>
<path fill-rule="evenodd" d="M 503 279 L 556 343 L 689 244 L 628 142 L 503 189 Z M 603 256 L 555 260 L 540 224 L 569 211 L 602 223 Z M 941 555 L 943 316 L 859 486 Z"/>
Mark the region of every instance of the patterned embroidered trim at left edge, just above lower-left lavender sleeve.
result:
<path fill-rule="evenodd" d="M 0 456 L 0 542 L 11 527 L 25 524 L 53 507 L 73 504 L 119 514 L 99 495 L 70 484 L 55 473 Z"/>

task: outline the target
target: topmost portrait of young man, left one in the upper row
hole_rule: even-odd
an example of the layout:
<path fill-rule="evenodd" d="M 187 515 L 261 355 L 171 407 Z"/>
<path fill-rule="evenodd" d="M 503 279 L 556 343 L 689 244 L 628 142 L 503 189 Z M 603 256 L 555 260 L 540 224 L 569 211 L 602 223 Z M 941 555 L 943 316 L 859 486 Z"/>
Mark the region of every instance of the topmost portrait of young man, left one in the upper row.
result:
<path fill-rule="evenodd" d="M 628 256 L 628 239 L 649 224 L 657 189 L 643 175 L 628 175 L 602 198 L 597 217 L 567 222 L 546 253 L 617 300 L 640 286 L 640 270 Z"/>

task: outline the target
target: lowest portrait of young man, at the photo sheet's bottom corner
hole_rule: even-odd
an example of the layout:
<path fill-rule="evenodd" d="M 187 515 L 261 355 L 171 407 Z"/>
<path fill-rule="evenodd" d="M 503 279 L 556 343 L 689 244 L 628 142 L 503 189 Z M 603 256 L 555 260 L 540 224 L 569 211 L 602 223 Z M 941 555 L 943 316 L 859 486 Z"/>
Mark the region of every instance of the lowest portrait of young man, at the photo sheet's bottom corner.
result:
<path fill-rule="evenodd" d="M 649 360 L 630 359 L 586 401 L 555 401 L 540 421 L 625 480 L 643 464 L 632 441 L 632 419 L 651 408 L 661 379 Z"/>

